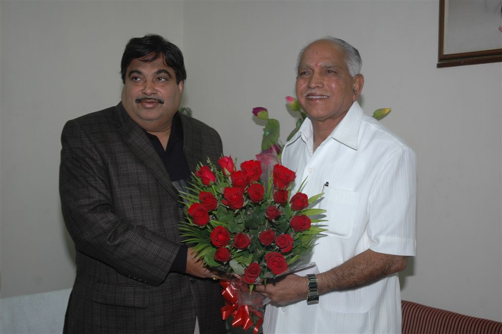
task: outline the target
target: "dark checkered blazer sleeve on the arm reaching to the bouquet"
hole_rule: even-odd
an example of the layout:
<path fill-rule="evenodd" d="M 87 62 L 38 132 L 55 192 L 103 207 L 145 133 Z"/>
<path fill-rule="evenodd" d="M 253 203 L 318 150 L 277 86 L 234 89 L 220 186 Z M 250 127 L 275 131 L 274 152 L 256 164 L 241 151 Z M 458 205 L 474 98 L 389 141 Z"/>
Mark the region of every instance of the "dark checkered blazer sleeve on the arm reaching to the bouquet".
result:
<path fill-rule="evenodd" d="M 76 121 L 65 125 L 61 144 L 61 206 L 76 249 L 124 276 L 161 284 L 180 244 L 115 214 L 106 163 Z"/>

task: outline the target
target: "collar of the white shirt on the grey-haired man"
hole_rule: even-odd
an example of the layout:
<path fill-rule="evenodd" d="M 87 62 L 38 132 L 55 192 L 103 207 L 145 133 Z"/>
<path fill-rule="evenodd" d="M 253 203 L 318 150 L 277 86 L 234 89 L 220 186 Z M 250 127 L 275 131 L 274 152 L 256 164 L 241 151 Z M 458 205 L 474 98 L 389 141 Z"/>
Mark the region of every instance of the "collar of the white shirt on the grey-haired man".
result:
<path fill-rule="evenodd" d="M 341 122 L 336 126 L 335 129 L 333 129 L 331 134 L 324 140 L 324 142 L 332 138 L 337 142 L 342 143 L 343 145 L 346 145 L 354 150 L 357 150 L 359 143 L 359 129 L 361 127 L 362 115 L 363 115 L 362 108 L 360 107 L 359 103 L 355 101 L 350 106 L 350 109 L 348 109 L 348 112 L 345 115 L 345 117 L 343 117 Z M 306 144 L 311 144 L 310 147 L 312 147 L 314 141 L 314 134 L 312 131 L 312 122 L 310 122 L 308 118 L 305 119 L 298 132 L 293 136 L 293 138 L 291 138 L 291 140 L 288 143 L 293 143 L 299 137 L 301 137 Z"/>

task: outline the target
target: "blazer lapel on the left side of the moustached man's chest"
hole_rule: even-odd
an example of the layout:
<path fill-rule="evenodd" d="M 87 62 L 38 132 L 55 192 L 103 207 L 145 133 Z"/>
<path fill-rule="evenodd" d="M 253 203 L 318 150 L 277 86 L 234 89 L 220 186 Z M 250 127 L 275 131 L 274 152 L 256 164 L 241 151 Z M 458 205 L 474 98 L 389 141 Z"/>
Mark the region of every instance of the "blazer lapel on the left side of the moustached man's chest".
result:
<path fill-rule="evenodd" d="M 171 177 L 167 173 L 158 153 L 150 143 L 145 131 L 129 117 L 121 102 L 115 106 L 115 123 L 131 150 L 150 169 L 167 192 L 178 201 L 178 191 L 173 186 Z"/>

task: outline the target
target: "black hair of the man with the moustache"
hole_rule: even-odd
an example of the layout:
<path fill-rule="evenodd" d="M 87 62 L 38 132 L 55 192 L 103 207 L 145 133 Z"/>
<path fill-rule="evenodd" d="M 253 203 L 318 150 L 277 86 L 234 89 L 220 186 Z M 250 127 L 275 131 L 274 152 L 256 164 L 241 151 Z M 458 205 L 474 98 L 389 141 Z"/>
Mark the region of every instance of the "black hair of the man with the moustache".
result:
<path fill-rule="evenodd" d="M 142 58 L 141 61 L 151 62 L 161 56 L 164 57 L 166 65 L 174 70 L 176 83 L 185 81 L 187 72 L 180 49 L 162 36 L 148 34 L 144 37 L 131 38 L 127 43 L 120 61 L 122 82 L 126 83 L 127 67 L 133 59 Z"/>

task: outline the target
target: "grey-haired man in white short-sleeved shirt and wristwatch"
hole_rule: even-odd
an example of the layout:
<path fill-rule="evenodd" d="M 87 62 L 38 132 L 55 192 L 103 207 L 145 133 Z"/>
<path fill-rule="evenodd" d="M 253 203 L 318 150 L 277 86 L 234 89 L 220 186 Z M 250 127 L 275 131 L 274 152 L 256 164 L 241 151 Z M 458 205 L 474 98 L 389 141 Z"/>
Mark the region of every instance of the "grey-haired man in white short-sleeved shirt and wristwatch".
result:
<path fill-rule="evenodd" d="M 287 305 L 267 306 L 264 332 L 399 333 L 398 272 L 415 255 L 415 154 L 363 114 L 354 47 L 328 37 L 298 59 L 296 94 L 308 119 L 282 162 L 297 174 L 294 189 L 306 179 L 309 197 L 324 192 L 317 207 L 327 210 L 327 231 L 311 256 L 319 274 L 256 286 Z"/>

